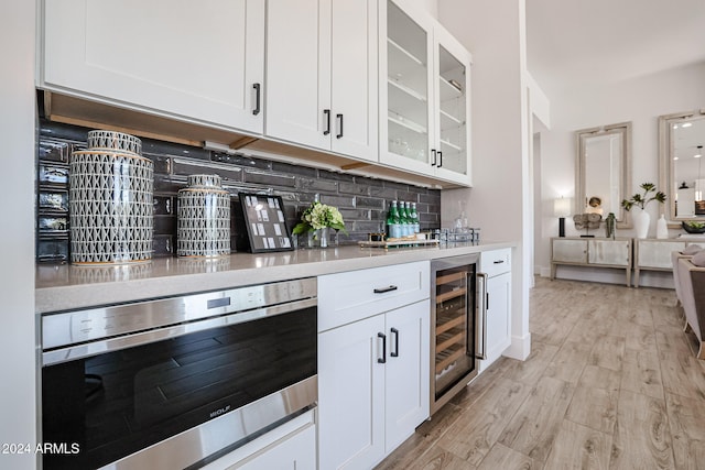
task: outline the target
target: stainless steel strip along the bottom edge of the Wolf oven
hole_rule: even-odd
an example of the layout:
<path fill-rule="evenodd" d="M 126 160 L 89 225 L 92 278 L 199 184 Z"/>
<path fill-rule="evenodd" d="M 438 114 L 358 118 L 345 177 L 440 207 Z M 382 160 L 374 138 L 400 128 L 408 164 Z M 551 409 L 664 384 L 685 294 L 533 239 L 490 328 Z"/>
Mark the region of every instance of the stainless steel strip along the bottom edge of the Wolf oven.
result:
<path fill-rule="evenodd" d="M 169 439 L 123 457 L 100 470 L 185 468 L 224 451 L 253 434 L 267 430 L 300 411 L 316 406 L 318 376 L 295 383 L 241 408 L 185 430 Z"/>

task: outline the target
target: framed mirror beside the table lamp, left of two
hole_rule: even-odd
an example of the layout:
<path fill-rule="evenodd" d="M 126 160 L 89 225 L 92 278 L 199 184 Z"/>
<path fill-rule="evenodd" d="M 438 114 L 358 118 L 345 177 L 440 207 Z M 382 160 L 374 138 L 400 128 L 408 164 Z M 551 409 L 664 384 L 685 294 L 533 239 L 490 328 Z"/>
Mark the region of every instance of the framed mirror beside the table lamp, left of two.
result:
<path fill-rule="evenodd" d="M 631 195 L 631 122 L 576 131 L 575 214 L 615 214 L 618 228 L 630 228 L 621 207 Z"/>

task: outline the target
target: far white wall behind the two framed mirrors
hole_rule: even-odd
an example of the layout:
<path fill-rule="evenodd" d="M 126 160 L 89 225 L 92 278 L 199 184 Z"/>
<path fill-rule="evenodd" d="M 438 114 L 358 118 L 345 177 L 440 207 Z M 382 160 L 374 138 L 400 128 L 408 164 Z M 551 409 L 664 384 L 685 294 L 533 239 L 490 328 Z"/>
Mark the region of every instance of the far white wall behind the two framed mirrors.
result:
<path fill-rule="evenodd" d="M 574 197 L 575 136 L 579 129 L 632 122 L 632 194 L 640 184 L 659 183 L 658 118 L 679 111 L 705 108 L 705 64 L 604 86 L 566 88 L 549 96 L 551 130 L 541 132 L 542 211 L 536 225 L 542 239 L 536 239 L 536 269 L 546 272 L 550 264 L 549 237 L 557 236 L 557 219 L 553 217 L 553 199 L 561 195 Z M 668 192 L 668 188 L 659 188 Z M 666 196 L 671 196 L 666 194 Z M 650 237 L 655 237 L 659 206 L 648 207 L 651 214 Z M 568 236 L 578 234 L 566 220 Z M 675 236 L 673 231 L 671 236 Z M 632 230 L 618 230 L 618 236 L 632 237 Z M 621 278 L 621 276 L 619 276 Z M 648 275 L 644 281 L 648 283 Z"/>

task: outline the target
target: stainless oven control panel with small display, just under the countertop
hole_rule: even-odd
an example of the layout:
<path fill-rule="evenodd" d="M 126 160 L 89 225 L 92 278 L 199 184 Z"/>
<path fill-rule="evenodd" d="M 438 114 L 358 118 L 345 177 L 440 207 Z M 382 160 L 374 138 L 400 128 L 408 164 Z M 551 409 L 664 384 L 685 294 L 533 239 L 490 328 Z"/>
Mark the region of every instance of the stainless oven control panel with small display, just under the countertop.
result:
<path fill-rule="evenodd" d="M 42 349 L 315 298 L 315 277 L 42 316 Z"/>

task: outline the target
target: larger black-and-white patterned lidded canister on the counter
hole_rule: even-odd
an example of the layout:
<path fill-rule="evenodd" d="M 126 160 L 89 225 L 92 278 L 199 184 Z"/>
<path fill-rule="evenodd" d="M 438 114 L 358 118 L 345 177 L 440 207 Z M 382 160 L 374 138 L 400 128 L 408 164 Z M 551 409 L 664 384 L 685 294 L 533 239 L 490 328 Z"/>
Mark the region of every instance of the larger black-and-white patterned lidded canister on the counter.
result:
<path fill-rule="evenodd" d="M 154 164 L 140 152 L 138 138 L 99 130 L 88 132 L 87 150 L 72 154 L 72 263 L 152 259 Z"/>

